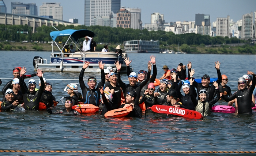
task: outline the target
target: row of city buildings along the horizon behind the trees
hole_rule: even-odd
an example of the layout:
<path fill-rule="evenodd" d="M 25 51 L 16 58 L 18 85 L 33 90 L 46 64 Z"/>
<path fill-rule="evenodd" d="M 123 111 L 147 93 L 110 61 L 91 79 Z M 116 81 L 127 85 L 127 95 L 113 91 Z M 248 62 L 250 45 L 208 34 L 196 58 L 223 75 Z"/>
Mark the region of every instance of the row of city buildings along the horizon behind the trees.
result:
<path fill-rule="evenodd" d="M 6 6 L 0 0 L 0 13 L 6 13 Z M 23 4 L 11 2 L 11 14 L 38 16 L 35 3 Z M 39 17 L 63 21 L 63 7 L 60 3 L 43 3 L 39 7 Z M 78 23 L 78 19 L 69 19 L 69 23 Z M 212 24 L 210 15 L 196 14 L 195 21 L 165 22 L 164 15 L 151 14 L 151 23 L 142 26 L 141 9 L 121 7 L 121 0 L 84 0 L 84 25 L 100 25 L 148 31 L 166 31 L 175 34 L 197 33 L 200 35 L 237 37 L 240 39 L 255 38 L 256 11 L 242 15 L 234 22 L 230 16 L 217 18 Z"/>

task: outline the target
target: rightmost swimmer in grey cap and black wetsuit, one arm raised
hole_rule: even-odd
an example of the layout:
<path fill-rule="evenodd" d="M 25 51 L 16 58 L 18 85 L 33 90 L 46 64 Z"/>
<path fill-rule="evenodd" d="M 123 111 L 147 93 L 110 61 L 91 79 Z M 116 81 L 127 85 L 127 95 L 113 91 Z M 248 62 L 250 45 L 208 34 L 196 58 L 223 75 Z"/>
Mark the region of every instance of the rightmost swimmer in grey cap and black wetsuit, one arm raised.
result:
<path fill-rule="evenodd" d="M 227 102 L 237 98 L 236 113 L 239 114 L 252 114 L 252 92 L 255 88 L 256 80 L 255 73 L 248 71 L 247 74 L 252 75 L 252 85 L 249 89 L 246 88 L 246 80 L 240 77 L 237 80 L 238 90 L 229 97 L 222 97 Z"/>

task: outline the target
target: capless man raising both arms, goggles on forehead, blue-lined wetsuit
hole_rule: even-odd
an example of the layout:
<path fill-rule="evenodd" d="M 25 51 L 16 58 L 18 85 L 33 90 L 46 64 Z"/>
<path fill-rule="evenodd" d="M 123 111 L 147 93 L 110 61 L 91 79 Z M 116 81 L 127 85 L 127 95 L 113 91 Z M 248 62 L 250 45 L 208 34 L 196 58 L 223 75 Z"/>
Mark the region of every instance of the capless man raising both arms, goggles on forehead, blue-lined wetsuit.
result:
<path fill-rule="evenodd" d="M 79 84 L 80 87 L 82 89 L 82 93 L 83 93 L 83 102 L 85 104 L 93 104 L 95 106 L 99 106 L 99 97 L 100 97 L 100 92 L 99 92 L 99 88 L 101 88 L 101 86 L 104 86 L 105 84 L 105 73 L 104 73 L 104 64 L 102 64 L 102 61 L 99 61 L 99 68 L 101 69 L 101 82 L 99 82 L 99 85 L 97 88 L 97 80 L 95 77 L 89 77 L 88 78 L 88 83 L 87 85 L 89 86 L 89 88 L 87 88 L 84 84 L 83 81 L 83 75 L 84 75 L 84 70 L 89 66 L 90 62 L 85 62 L 83 65 L 83 68 L 80 72 L 79 75 Z"/>

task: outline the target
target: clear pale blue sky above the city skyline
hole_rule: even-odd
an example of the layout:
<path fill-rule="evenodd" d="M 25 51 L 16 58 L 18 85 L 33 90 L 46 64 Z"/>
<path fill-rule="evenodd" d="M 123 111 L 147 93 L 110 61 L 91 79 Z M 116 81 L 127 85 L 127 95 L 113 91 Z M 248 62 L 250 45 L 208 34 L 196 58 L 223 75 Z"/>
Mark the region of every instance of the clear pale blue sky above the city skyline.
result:
<path fill-rule="evenodd" d="M 7 13 L 11 13 L 11 2 L 60 3 L 63 7 L 63 20 L 78 19 L 84 24 L 84 0 L 3 0 Z M 166 23 L 175 21 L 195 21 L 195 14 L 210 15 L 211 23 L 217 17 L 227 17 L 233 21 L 242 19 L 242 15 L 256 11 L 256 0 L 121 0 L 121 7 L 141 8 L 142 25 L 150 23 L 151 13 L 159 12 L 164 15 Z"/>

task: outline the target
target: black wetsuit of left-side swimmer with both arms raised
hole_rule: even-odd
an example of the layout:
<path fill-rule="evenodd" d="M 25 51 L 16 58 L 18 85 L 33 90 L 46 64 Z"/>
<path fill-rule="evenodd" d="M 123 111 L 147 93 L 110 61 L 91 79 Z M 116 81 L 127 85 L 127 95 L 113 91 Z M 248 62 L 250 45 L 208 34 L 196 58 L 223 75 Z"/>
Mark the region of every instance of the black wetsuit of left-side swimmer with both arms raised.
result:
<path fill-rule="evenodd" d="M 34 110 L 37 111 L 39 107 L 39 102 L 42 97 L 42 94 L 44 92 L 44 79 L 40 77 L 41 86 L 38 89 L 38 91 L 34 91 L 33 93 L 30 93 L 27 89 L 25 89 L 23 84 L 22 77 L 19 77 L 19 83 L 20 83 L 20 91 L 22 92 L 23 100 L 24 100 L 24 108 L 26 110 Z"/>

